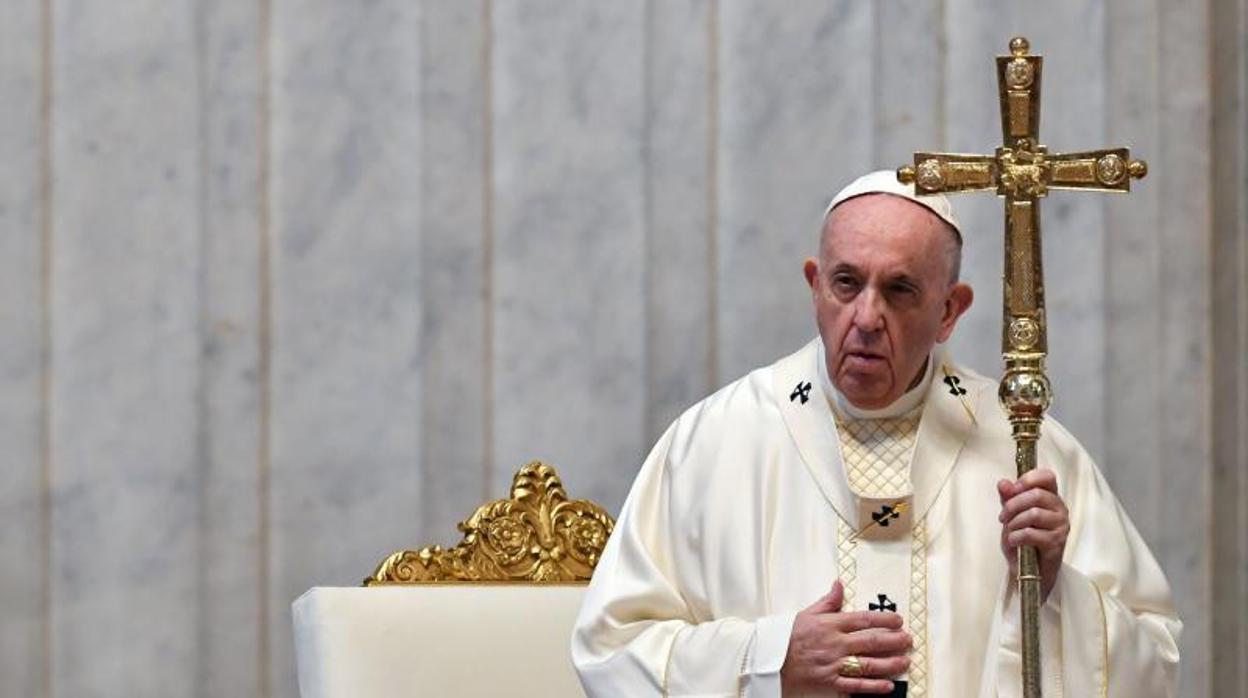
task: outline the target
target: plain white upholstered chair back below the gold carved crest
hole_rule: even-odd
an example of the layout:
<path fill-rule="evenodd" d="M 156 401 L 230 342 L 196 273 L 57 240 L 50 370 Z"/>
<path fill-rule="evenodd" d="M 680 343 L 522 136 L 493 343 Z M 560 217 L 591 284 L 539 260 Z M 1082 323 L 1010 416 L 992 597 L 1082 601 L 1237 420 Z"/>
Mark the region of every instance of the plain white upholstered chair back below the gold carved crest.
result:
<path fill-rule="evenodd" d="M 583 697 L 584 586 L 317 587 L 292 606 L 303 698 Z"/>

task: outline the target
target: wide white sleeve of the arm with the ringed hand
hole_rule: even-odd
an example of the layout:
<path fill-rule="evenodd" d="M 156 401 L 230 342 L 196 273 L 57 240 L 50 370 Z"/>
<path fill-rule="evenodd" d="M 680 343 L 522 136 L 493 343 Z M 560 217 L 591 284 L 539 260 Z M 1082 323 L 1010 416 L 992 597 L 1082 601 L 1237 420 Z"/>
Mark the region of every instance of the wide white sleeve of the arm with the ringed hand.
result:
<path fill-rule="evenodd" d="M 794 614 L 696 622 L 671 559 L 668 448 L 641 466 L 598 563 L 572 638 L 593 697 L 780 697 Z"/>

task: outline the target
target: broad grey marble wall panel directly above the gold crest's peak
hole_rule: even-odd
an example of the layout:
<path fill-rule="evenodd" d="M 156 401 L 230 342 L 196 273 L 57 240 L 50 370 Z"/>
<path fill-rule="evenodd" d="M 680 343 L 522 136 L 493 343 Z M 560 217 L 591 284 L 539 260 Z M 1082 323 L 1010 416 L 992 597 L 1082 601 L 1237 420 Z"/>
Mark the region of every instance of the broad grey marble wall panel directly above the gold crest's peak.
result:
<path fill-rule="evenodd" d="M 548 460 L 618 509 L 643 392 L 644 7 L 494 5 L 494 488 Z"/>

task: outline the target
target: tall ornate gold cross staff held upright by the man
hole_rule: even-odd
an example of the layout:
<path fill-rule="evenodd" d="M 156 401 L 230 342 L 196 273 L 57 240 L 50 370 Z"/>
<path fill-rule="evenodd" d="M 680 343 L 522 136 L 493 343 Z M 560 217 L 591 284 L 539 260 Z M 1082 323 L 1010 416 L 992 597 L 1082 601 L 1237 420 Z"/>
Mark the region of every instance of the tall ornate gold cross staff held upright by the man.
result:
<path fill-rule="evenodd" d="M 1124 147 L 1052 154 L 1040 145 L 1041 56 L 1027 55 L 1022 36 L 1010 40 L 1008 56 L 997 56 L 1001 131 L 1005 145 L 995 155 L 916 152 L 914 165 L 897 179 L 915 192 L 953 194 L 996 190 L 1006 200 L 1006 261 L 1001 352 L 1006 372 L 998 396 L 1013 427 L 1018 476 L 1036 467 L 1036 441 L 1052 401 L 1045 355 L 1045 277 L 1040 255 L 1040 200 L 1051 189 L 1131 191 L 1148 166 L 1131 160 Z M 1022 688 L 1040 698 L 1040 563 L 1036 548 L 1018 551 L 1022 601 Z"/>

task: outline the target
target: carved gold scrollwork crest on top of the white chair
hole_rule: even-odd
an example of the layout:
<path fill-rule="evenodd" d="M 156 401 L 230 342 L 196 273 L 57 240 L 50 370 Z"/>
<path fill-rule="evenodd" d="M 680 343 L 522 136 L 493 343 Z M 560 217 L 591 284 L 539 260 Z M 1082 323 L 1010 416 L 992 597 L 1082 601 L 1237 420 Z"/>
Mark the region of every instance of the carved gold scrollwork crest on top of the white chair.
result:
<path fill-rule="evenodd" d="M 515 473 L 510 498 L 489 502 L 459 523 L 459 544 L 396 552 L 364 586 L 585 582 L 614 527 L 598 504 L 568 499 L 554 468 L 534 461 Z"/>

